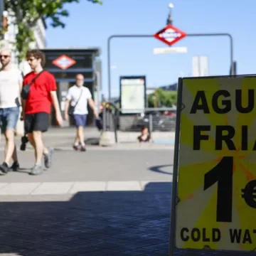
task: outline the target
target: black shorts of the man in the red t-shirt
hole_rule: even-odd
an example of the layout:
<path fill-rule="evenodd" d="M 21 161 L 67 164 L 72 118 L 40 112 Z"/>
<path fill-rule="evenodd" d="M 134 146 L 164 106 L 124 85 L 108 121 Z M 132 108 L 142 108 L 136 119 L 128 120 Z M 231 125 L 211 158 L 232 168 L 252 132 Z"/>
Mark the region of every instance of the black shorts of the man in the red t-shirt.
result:
<path fill-rule="evenodd" d="M 26 114 L 24 121 L 24 128 L 26 134 L 33 131 L 46 132 L 49 127 L 49 114 L 46 112 L 39 112 L 36 114 Z"/>

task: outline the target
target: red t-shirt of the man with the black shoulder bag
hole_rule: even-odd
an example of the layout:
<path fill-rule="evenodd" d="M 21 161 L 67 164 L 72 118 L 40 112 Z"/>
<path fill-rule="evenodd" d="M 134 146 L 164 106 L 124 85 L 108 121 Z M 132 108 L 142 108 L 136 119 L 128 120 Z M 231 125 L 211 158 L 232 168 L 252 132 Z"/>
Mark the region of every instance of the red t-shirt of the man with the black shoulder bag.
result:
<path fill-rule="evenodd" d="M 23 85 L 28 85 L 35 78 L 37 73 L 28 73 Z M 30 87 L 28 100 L 26 100 L 26 114 L 35 114 L 38 112 L 46 112 L 50 114 L 50 105 L 52 102 L 50 92 L 57 90 L 55 78 L 48 71 L 43 71 L 36 78 L 36 81 Z"/>

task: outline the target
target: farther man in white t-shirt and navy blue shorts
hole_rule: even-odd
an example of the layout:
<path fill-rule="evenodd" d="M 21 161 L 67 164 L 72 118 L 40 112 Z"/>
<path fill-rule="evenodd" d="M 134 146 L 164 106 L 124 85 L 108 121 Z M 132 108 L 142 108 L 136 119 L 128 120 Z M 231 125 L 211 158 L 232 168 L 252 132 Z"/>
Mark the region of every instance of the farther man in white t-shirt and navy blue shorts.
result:
<path fill-rule="evenodd" d="M 87 122 L 87 104 L 92 108 L 95 117 L 98 117 L 92 94 L 87 87 L 83 86 L 84 82 L 85 78 L 82 74 L 76 75 L 75 85 L 69 88 L 65 102 L 65 119 L 68 121 L 70 115 L 77 128 L 73 148 L 80 151 L 86 151 L 84 128 Z"/>

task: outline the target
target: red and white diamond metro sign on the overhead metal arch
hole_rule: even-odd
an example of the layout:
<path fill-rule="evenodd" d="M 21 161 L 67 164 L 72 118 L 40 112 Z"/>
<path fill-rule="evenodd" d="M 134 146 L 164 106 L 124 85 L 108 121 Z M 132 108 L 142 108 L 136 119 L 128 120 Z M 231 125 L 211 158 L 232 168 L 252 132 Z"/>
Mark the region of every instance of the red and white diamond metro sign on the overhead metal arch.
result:
<path fill-rule="evenodd" d="M 172 25 L 167 25 L 165 28 L 161 29 L 161 31 L 154 34 L 154 38 L 159 39 L 168 46 L 174 45 L 174 43 L 177 43 L 186 36 L 187 34 L 185 32 Z"/>

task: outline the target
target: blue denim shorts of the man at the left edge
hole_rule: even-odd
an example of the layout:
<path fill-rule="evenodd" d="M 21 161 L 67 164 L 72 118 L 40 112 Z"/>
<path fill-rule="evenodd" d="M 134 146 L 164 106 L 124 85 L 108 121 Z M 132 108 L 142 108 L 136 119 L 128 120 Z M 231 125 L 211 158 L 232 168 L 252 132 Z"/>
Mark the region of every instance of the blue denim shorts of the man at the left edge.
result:
<path fill-rule="evenodd" d="M 0 127 L 2 134 L 6 132 L 6 130 L 16 129 L 19 112 L 19 107 L 6 107 L 0 109 Z"/>

